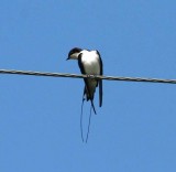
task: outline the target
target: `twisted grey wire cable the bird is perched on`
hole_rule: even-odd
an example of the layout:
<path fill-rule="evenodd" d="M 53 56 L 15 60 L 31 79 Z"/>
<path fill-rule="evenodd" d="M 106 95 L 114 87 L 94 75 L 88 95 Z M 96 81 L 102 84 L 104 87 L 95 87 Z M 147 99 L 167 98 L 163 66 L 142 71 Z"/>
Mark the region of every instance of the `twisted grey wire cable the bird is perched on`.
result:
<path fill-rule="evenodd" d="M 0 69 L 0 74 L 33 75 L 33 76 L 50 76 L 50 77 L 73 77 L 73 78 L 96 78 L 96 79 L 106 79 L 106 80 L 176 84 L 176 79 L 122 77 L 122 76 L 101 76 L 101 75 L 95 76 L 95 75 L 48 73 L 48 72 L 33 72 L 33 71 L 15 71 L 15 69 Z"/>

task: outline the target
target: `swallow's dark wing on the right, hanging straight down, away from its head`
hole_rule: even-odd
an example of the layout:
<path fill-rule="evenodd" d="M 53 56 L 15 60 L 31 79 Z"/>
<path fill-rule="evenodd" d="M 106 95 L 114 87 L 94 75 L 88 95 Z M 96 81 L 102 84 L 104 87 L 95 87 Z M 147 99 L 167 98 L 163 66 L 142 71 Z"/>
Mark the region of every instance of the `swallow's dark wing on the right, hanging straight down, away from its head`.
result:
<path fill-rule="evenodd" d="M 100 56 L 100 53 L 97 51 L 97 54 L 99 55 L 99 64 L 100 64 L 100 75 L 103 74 L 103 64 Z M 99 106 L 102 106 L 102 79 L 99 79 Z"/>

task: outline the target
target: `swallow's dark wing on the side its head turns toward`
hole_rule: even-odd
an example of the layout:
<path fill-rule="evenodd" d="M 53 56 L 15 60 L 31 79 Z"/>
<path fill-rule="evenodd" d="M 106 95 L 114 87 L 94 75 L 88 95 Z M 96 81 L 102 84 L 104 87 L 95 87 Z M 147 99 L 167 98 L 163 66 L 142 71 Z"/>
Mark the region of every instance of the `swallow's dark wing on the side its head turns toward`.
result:
<path fill-rule="evenodd" d="M 81 74 L 85 75 L 86 72 L 85 72 L 85 67 L 84 67 L 84 65 L 82 65 L 82 63 L 81 63 L 81 56 L 82 56 L 82 53 L 80 53 L 80 54 L 78 55 L 78 65 L 79 65 L 79 68 L 80 68 Z M 92 109 L 94 109 L 95 114 L 97 114 L 97 112 L 96 112 L 95 105 L 94 105 L 94 101 L 92 101 L 92 100 L 94 100 L 94 97 L 90 96 L 90 88 L 89 88 L 88 80 L 87 80 L 86 78 L 84 78 L 84 80 L 85 80 L 85 85 L 86 85 L 87 92 L 88 92 L 88 94 L 89 94 L 89 98 L 90 98 L 90 101 L 91 101 Z"/>

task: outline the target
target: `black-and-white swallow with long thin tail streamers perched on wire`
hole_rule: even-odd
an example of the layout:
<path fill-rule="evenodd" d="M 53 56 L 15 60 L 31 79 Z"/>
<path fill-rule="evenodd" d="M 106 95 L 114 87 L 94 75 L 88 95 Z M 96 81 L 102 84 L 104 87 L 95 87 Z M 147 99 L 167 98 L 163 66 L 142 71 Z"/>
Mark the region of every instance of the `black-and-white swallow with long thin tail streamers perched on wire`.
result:
<path fill-rule="evenodd" d="M 67 60 L 77 60 L 78 66 L 80 68 L 81 74 L 84 75 L 102 75 L 103 74 L 103 64 L 100 56 L 100 53 L 97 50 L 82 50 L 79 47 L 74 47 L 69 51 Z M 96 108 L 94 105 L 94 97 L 96 93 L 96 88 L 99 86 L 99 107 L 102 106 L 102 79 L 97 78 L 84 78 L 85 89 L 82 96 L 82 104 L 85 100 L 90 100 L 91 107 L 94 109 L 95 115 Z M 90 109 L 91 112 L 91 109 Z M 90 120 L 90 118 L 89 118 Z"/>

